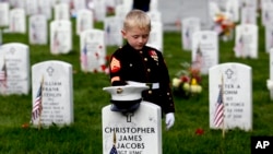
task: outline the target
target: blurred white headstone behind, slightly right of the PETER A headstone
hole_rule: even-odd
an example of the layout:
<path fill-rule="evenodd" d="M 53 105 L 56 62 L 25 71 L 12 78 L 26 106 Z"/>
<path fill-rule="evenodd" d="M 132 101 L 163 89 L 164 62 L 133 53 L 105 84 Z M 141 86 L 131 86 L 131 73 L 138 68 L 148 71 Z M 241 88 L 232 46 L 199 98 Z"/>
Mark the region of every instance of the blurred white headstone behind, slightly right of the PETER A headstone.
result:
<path fill-rule="evenodd" d="M 258 58 L 258 26 L 254 24 L 240 24 L 235 27 L 235 57 Z"/>

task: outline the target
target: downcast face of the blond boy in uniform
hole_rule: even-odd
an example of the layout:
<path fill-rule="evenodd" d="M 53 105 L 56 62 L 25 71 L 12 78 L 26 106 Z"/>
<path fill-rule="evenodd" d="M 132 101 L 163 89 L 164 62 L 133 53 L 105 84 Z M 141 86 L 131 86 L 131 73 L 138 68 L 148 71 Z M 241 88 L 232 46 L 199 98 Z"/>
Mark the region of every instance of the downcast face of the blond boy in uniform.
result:
<path fill-rule="evenodd" d="M 122 29 L 122 37 L 127 39 L 128 44 L 135 50 L 141 50 L 149 40 L 150 31 L 132 27 L 130 29 Z"/>

